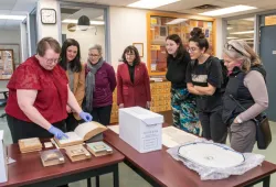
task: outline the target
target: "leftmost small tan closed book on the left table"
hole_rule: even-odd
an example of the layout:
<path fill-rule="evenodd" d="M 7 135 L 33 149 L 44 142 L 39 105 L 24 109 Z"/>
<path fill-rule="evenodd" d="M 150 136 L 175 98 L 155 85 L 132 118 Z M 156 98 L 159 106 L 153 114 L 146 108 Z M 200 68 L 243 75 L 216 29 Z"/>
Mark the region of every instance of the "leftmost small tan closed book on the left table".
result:
<path fill-rule="evenodd" d="M 36 152 L 42 150 L 42 143 L 39 138 L 19 140 L 19 150 L 21 153 Z"/>

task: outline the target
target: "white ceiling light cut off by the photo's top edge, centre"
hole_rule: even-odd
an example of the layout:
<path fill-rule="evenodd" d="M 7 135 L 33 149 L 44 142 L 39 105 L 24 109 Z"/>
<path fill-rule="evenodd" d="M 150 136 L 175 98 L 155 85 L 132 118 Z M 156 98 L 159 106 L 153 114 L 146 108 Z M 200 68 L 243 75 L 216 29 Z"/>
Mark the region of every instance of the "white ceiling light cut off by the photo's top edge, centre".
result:
<path fill-rule="evenodd" d="M 128 4 L 127 7 L 138 8 L 138 9 L 155 9 L 180 0 L 140 0 Z"/>

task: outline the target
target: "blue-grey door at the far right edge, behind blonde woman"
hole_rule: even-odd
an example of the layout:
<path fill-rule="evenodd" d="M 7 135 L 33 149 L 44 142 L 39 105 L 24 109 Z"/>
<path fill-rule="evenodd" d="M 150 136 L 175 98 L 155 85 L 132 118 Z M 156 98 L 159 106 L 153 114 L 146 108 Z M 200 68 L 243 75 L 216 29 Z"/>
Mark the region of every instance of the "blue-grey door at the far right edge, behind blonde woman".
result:
<path fill-rule="evenodd" d="M 259 56 L 266 69 L 269 107 L 267 116 L 276 121 L 276 25 L 261 28 Z"/>

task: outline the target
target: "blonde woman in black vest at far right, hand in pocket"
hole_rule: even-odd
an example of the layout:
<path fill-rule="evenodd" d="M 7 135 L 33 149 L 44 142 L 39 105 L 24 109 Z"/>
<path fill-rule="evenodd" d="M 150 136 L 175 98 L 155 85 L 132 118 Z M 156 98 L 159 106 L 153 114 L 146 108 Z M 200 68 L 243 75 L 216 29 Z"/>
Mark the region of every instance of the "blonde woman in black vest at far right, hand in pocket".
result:
<path fill-rule="evenodd" d="M 242 40 L 225 44 L 224 65 L 230 79 L 222 117 L 230 125 L 231 147 L 242 153 L 252 152 L 256 142 L 256 124 L 252 119 L 268 107 L 266 72 L 255 52 Z"/>

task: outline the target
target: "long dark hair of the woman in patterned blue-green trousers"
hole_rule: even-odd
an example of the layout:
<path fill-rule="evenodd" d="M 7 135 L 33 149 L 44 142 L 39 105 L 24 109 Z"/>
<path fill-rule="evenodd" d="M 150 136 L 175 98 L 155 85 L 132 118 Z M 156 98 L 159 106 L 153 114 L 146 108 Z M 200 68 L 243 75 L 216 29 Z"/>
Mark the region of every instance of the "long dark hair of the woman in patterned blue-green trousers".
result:
<path fill-rule="evenodd" d="M 176 44 L 179 45 L 179 47 L 176 52 L 177 53 L 176 58 L 178 58 L 178 59 L 182 58 L 184 54 L 188 54 L 188 53 L 185 53 L 187 52 L 185 47 L 183 46 L 182 40 L 178 34 L 168 35 L 166 37 L 166 41 L 167 40 L 171 40 L 171 41 L 176 42 Z M 167 50 L 166 50 L 166 52 L 167 52 Z M 168 52 L 167 52 L 167 63 L 170 62 L 169 61 L 170 58 L 173 58 L 173 56 L 171 54 L 168 54 Z"/>

